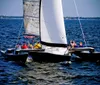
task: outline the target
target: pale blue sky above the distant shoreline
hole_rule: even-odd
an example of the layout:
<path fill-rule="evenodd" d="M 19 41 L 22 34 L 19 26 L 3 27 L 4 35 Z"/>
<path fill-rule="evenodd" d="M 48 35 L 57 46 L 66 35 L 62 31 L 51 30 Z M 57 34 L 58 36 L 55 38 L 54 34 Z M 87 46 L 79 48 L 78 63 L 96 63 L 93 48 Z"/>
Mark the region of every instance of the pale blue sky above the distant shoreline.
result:
<path fill-rule="evenodd" d="M 62 0 L 64 16 L 100 17 L 100 0 Z M 76 11 L 77 10 L 77 11 Z M 0 15 L 22 16 L 22 0 L 0 0 Z"/>

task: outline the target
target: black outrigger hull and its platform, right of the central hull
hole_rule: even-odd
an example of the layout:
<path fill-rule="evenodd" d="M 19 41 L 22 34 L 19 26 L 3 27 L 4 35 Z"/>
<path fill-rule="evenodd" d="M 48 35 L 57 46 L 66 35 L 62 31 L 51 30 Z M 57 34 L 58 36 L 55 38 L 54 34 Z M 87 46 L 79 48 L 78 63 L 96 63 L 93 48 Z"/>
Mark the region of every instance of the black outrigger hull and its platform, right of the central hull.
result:
<path fill-rule="evenodd" d="M 93 47 L 71 48 L 70 52 L 76 55 L 79 60 L 97 61 L 100 60 L 100 52 L 95 52 Z"/>

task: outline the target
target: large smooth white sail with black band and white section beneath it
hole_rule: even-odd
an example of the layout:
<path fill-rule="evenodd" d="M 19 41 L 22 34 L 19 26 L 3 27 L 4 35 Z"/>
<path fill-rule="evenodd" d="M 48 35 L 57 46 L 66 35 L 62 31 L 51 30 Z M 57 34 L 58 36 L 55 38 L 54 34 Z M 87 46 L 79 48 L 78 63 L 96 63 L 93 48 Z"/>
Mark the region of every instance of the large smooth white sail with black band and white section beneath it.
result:
<path fill-rule="evenodd" d="M 68 53 L 62 0 L 42 0 L 40 20 L 41 42 L 45 43 L 42 46 L 45 51 L 60 55 Z"/>

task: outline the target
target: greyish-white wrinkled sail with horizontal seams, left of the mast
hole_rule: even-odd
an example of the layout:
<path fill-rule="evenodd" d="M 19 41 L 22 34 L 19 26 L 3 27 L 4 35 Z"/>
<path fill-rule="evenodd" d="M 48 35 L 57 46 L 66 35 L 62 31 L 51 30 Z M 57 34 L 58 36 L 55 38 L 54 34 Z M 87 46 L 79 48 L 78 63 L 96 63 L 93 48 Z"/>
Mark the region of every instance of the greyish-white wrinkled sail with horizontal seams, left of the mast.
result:
<path fill-rule="evenodd" d="M 39 35 L 39 3 L 40 0 L 24 1 L 24 28 L 25 34 Z"/>

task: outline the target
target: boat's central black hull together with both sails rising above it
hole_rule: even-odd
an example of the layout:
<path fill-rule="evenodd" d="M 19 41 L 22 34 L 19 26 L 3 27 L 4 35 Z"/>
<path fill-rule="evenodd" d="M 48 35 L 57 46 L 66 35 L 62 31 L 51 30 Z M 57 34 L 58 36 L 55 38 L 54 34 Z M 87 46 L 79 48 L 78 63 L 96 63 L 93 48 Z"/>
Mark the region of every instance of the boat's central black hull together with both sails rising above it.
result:
<path fill-rule="evenodd" d="M 33 61 L 70 61 L 62 0 L 24 0 L 24 23 L 25 34 L 39 36 L 42 46 L 28 52 Z"/>

